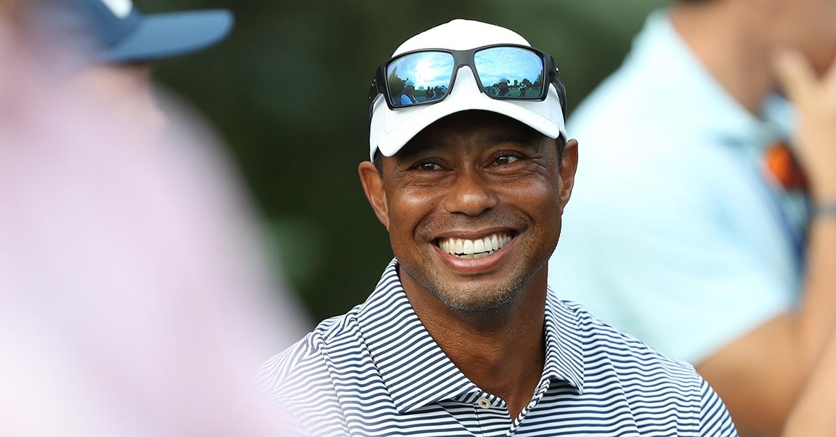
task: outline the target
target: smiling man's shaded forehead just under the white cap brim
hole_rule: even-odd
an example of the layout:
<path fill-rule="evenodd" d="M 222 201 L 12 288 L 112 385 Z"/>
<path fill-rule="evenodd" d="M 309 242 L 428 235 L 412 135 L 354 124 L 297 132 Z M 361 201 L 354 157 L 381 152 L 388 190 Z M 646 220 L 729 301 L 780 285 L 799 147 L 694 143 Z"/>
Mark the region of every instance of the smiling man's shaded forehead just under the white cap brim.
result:
<path fill-rule="evenodd" d="M 426 150 L 454 149 L 460 145 L 480 147 L 513 142 L 538 147 L 551 141 L 528 125 L 506 115 L 468 110 L 447 115 L 421 130 L 393 158 L 409 159 Z"/>

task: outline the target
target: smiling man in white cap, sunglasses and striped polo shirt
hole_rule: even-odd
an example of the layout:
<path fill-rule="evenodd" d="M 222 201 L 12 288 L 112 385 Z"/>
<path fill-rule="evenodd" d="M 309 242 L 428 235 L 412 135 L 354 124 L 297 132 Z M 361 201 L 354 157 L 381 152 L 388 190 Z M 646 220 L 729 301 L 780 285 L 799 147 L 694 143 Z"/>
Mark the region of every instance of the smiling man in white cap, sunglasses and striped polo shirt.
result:
<path fill-rule="evenodd" d="M 402 103 L 407 81 L 446 92 Z M 525 98 L 494 86 L 513 81 Z M 564 95 L 548 53 L 466 20 L 380 66 L 359 175 L 395 260 L 261 372 L 304 434 L 736 434 L 691 366 L 548 289 L 578 163 Z"/>

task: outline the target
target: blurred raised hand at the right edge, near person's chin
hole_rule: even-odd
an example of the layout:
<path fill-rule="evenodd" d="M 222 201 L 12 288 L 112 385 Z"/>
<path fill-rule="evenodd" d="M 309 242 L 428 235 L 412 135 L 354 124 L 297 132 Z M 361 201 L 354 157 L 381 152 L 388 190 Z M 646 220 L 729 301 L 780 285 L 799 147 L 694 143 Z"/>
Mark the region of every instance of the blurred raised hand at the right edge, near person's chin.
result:
<path fill-rule="evenodd" d="M 798 109 L 795 142 L 816 202 L 836 202 L 836 63 L 818 79 L 800 53 L 774 60 L 777 77 Z"/>

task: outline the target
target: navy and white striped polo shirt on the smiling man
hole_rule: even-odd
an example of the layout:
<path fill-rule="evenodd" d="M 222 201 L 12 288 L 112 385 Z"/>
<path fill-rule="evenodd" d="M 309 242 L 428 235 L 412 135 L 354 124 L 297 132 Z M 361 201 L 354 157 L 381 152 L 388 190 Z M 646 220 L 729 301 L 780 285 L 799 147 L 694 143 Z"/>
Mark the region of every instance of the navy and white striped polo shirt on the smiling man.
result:
<path fill-rule="evenodd" d="M 692 368 L 548 291 L 546 363 L 516 418 L 461 373 L 386 268 L 375 292 L 263 365 L 260 378 L 310 435 L 737 435 Z"/>

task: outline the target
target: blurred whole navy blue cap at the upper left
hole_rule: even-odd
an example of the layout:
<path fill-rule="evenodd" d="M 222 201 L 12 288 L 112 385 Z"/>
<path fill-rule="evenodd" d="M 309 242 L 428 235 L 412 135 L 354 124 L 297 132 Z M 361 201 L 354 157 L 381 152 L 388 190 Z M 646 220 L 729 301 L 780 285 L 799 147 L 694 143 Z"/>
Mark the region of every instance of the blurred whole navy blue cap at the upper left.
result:
<path fill-rule="evenodd" d="M 104 63 L 138 62 L 195 52 L 220 42 L 233 22 L 232 13 L 224 9 L 145 15 L 131 0 L 52 3 L 59 8 L 50 11 L 46 21 L 64 30 L 72 29 L 75 36 L 84 33 L 87 49 Z"/>

